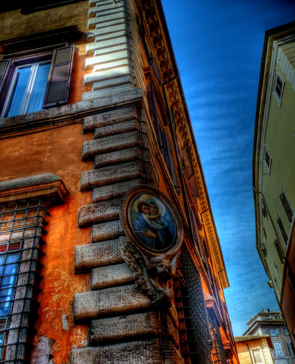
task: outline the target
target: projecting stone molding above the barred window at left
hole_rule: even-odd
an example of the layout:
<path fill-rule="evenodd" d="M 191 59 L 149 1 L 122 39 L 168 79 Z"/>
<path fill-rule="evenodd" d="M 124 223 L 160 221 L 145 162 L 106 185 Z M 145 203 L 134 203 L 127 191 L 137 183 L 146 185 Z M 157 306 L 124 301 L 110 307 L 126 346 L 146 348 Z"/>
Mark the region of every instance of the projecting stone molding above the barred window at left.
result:
<path fill-rule="evenodd" d="M 50 205 L 62 203 L 68 190 L 62 179 L 53 173 L 42 173 L 0 182 L 0 202 L 28 198 L 50 200 Z"/>

